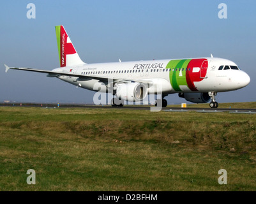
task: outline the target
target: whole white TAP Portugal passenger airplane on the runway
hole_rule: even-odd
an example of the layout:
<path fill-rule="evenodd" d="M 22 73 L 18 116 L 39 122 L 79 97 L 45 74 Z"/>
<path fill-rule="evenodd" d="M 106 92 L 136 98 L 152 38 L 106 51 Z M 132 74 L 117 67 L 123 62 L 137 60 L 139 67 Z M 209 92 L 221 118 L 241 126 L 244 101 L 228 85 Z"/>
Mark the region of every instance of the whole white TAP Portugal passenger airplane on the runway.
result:
<path fill-rule="evenodd" d="M 192 103 L 207 103 L 217 108 L 218 92 L 246 87 L 250 77 L 237 64 L 218 57 L 165 59 L 151 61 L 83 62 L 63 25 L 57 25 L 56 37 L 60 67 L 50 70 L 32 68 L 9 69 L 47 73 L 77 87 L 113 94 L 112 106 L 124 101 L 142 101 L 148 94 L 160 94 L 155 106 L 166 107 L 165 96 L 177 93 Z"/>

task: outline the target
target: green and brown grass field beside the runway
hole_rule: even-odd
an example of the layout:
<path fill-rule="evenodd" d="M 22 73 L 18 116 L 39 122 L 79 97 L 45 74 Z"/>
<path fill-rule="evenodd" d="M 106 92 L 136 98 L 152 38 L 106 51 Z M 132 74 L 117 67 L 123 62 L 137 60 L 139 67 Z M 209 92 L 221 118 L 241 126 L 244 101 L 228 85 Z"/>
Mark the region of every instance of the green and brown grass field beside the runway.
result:
<path fill-rule="evenodd" d="M 0 191 L 255 191 L 255 129 L 256 114 L 0 107 Z"/>

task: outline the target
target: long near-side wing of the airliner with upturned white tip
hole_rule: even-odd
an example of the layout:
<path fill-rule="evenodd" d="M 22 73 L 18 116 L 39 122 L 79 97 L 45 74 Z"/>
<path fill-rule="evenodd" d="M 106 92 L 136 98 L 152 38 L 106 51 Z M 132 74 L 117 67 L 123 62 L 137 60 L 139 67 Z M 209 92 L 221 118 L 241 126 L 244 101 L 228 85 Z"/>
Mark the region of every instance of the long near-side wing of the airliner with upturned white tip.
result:
<path fill-rule="evenodd" d="M 129 78 L 107 78 L 107 77 L 95 76 L 95 75 L 79 75 L 79 74 L 74 74 L 74 73 L 32 69 L 32 68 L 10 68 L 6 64 L 4 64 L 4 66 L 5 66 L 5 72 L 7 72 L 9 69 L 17 69 L 17 70 L 22 70 L 22 71 L 34 71 L 34 72 L 39 72 L 39 73 L 47 73 L 48 74 L 47 77 L 69 76 L 69 77 L 79 77 L 80 80 L 96 79 L 96 80 L 100 80 L 100 81 L 108 81 L 109 79 L 112 79 L 113 82 L 121 82 L 121 83 L 139 82 L 142 84 L 147 84 L 149 86 L 153 85 L 153 82 L 150 80 L 136 80 L 136 79 L 129 79 Z"/>

